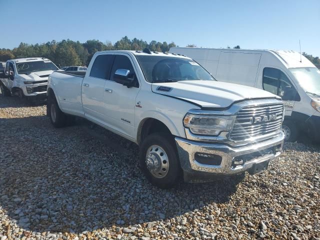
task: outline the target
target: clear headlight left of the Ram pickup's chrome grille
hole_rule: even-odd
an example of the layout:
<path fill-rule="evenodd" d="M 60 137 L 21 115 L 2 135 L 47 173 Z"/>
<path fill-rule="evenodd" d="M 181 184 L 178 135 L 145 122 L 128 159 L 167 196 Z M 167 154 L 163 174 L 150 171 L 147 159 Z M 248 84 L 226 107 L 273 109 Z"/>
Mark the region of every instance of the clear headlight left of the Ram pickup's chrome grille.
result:
<path fill-rule="evenodd" d="M 220 131 L 230 130 L 235 116 L 196 115 L 187 113 L 183 125 L 194 134 L 218 135 Z"/>

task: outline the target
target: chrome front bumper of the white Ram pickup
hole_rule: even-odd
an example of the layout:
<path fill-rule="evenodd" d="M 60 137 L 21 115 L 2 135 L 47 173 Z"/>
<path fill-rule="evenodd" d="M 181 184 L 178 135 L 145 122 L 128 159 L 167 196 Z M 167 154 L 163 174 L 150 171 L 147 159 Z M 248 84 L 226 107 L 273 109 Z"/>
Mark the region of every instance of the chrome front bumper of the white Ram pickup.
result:
<path fill-rule="evenodd" d="M 231 147 L 225 144 L 203 143 L 175 137 L 175 142 L 183 170 L 184 180 L 187 182 L 206 181 L 212 175 L 231 175 L 249 170 L 254 163 L 274 159 L 280 155 L 284 134 L 279 134 L 271 139 L 240 147 Z M 266 149 L 273 149 L 267 154 L 259 154 Z M 214 154 L 219 156 L 219 164 L 202 164 L 195 160 L 195 154 Z M 248 159 L 248 156 L 254 156 Z M 234 165 L 235 157 L 243 155 L 242 164 Z M 237 162 L 238 163 L 238 162 Z M 197 179 L 198 178 L 198 179 Z M 201 179 L 200 179 L 201 178 Z M 208 179 L 209 180 L 209 179 Z"/>

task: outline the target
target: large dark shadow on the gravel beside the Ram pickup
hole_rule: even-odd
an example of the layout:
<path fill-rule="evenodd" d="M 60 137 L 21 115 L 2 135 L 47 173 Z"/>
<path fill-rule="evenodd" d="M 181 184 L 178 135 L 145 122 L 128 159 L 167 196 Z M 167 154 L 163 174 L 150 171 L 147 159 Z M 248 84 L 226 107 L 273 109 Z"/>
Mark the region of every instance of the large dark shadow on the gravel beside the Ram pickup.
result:
<path fill-rule="evenodd" d="M 25 230 L 82 232 L 165 220 L 228 202 L 243 177 L 159 189 L 138 168 L 137 146 L 104 129 L 91 134 L 86 121 L 60 129 L 46 116 L 0 121 L 0 215 Z"/>

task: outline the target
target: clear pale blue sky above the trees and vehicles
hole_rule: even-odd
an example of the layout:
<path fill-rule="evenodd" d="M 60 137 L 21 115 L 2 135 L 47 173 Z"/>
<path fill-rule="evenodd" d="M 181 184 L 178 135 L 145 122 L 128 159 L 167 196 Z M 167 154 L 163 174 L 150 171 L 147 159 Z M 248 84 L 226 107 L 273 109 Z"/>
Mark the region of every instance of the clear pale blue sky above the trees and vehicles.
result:
<path fill-rule="evenodd" d="M 0 0 L 0 48 L 122 36 L 320 56 L 320 0 Z M 7 9 L 7 10 L 6 10 Z"/>

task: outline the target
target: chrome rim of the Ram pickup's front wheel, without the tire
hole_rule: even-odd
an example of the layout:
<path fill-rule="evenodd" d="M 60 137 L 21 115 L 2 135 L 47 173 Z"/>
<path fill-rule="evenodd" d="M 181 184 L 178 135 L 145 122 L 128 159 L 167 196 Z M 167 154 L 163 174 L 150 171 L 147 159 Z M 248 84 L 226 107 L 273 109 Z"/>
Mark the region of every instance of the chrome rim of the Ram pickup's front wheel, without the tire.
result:
<path fill-rule="evenodd" d="M 163 178 L 169 170 L 169 159 L 162 147 L 151 145 L 145 155 L 145 165 L 156 178 Z"/>

